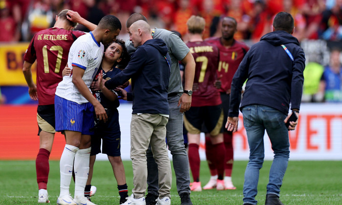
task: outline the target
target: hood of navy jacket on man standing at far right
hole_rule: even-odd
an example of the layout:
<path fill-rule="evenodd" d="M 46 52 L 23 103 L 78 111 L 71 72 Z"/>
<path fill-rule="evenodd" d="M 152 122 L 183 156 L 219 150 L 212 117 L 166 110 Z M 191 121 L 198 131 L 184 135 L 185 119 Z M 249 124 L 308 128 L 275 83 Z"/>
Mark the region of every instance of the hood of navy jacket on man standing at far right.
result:
<path fill-rule="evenodd" d="M 263 37 L 261 37 L 260 41 L 267 41 L 274 46 L 286 43 L 295 43 L 296 45 L 299 45 L 299 41 L 297 40 L 297 38 L 287 33 L 286 31 L 274 31 L 265 34 Z"/>

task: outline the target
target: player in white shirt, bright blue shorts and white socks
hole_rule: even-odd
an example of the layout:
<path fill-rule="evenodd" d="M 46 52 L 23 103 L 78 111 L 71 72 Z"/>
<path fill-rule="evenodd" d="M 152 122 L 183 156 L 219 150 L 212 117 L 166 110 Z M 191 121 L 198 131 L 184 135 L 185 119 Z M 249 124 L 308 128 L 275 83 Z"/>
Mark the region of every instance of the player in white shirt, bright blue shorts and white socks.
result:
<path fill-rule="evenodd" d="M 70 47 L 68 67 L 71 75 L 64 76 L 56 89 L 56 131 L 65 131 L 66 144 L 60 161 L 61 192 L 59 205 L 94 205 L 85 196 L 88 179 L 90 135 L 94 127 L 93 111 L 100 121 L 107 121 L 105 108 L 92 95 L 90 84 L 100 67 L 104 44 L 114 41 L 121 22 L 112 15 L 101 19 L 92 32 L 78 38 Z M 75 170 L 75 197 L 69 196 L 72 170 Z"/>

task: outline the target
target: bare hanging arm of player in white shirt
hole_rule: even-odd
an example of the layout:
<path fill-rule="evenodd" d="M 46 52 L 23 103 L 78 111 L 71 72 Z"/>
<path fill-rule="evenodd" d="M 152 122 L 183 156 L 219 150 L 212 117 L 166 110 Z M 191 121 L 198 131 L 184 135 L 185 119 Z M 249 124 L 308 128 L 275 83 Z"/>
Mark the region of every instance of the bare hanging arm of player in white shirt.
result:
<path fill-rule="evenodd" d="M 76 86 L 78 91 L 83 95 L 83 97 L 85 97 L 85 99 L 94 106 L 96 118 L 106 122 L 108 119 L 106 110 L 102 106 L 102 104 L 98 100 L 96 100 L 93 94 L 89 91 L 88 87 L 82 79 L 84 74 L 84 69 L 74 65 L 72 67 L 72 83 L 74 83 L 74 85 Z"/>

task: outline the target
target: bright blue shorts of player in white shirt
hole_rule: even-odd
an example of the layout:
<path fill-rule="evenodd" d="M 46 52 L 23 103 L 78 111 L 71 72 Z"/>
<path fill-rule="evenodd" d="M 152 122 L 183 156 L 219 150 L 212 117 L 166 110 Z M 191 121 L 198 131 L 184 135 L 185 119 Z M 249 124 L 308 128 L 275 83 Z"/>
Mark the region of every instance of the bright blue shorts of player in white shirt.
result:
<path fill-rule="evenodd" d="M 92 135 L 94 127 L 94 106 L 90 102 L 78 104 L 55 96 L 56 131 L 76 131 Z"/>

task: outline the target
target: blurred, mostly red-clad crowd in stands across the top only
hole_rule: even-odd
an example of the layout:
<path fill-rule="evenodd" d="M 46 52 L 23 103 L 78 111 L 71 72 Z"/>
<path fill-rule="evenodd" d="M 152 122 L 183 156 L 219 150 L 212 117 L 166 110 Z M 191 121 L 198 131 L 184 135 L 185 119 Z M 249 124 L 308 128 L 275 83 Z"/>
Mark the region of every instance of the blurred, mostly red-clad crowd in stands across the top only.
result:
<path fill-rule="evenodd" d="M 199 15 L 207 23 L 204 38 L 219 35 L 219 18 L 231 16 L 238 22 L 235 38 L 253 42 L 271 31 L 278 12 L 286 11 L 295 18 L 299 41 L 342 39 L 342 0 L 0 0 L 0 9 L 1 31 L 6 31 L 0 41 L 29 41 L 33 33 L 53 25 L 62 9 L 77 11 L 93 23 L 107 14 L 125 20 L 142 13 L 156 27 L 182 36 L 190 16 Z"/>

